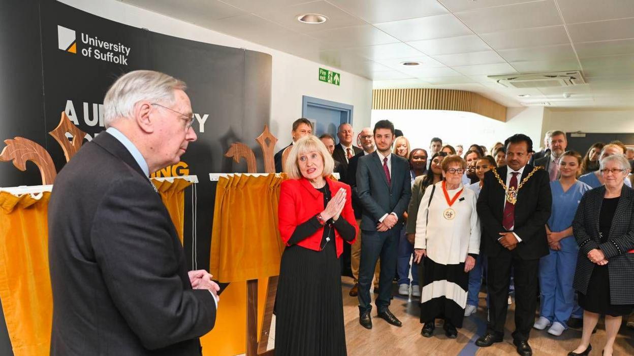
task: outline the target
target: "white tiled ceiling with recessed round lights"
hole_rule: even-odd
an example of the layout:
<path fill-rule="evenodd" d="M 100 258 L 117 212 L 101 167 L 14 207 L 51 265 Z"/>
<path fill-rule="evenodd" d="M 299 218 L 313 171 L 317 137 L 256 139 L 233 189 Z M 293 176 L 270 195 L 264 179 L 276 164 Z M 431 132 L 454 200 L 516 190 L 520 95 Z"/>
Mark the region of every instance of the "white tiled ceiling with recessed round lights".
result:
<path fill-rule="evenodd" d="M 120 1 L 367 77 L 375 88 L 463 89 L 507 106 L 634 107 L 634 0 Z M 303 13 L 328 21 L 300 23 Z M 487 78 L 562 70 L 581 70 L 587 84 L 520 90 Z"/>

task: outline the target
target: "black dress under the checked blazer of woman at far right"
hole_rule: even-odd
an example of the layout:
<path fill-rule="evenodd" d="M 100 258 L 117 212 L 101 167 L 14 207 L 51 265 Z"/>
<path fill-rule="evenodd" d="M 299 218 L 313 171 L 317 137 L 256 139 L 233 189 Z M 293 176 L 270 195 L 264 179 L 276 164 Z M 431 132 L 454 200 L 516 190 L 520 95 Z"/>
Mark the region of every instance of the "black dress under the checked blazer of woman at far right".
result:
<path fill-rule="evenodd" d="M 604 198 L 599 213 L 598 230 L 601 237 L 601 243 L 607 242 L 612 226 L 612 218 L 616 212 L 616 206 L 619 198 Z M 629 315 L 631 305 L 617 305 L 610 303 L 610 275 L 607 265 L 595 265 L 590 276 L 587 294 L 579 293 L 579 307 L 588 312 L 597 314 L 607 314 L 613 317 L 621 315 Z"/>

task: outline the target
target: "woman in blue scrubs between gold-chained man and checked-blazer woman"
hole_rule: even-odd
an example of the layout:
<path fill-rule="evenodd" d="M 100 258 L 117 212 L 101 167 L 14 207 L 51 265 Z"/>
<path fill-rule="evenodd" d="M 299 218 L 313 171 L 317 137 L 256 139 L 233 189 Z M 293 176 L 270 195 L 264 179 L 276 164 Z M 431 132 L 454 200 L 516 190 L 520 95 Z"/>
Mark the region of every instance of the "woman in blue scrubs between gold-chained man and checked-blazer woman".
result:
<path fill-rule="evenodd" d="M 577 180 L 581 169 L 581 155 L 567 151 L 559 162 L 560 178 L 550 182 L 553 203 L 547 223 L 550 253 L 540 259 L 540 318 L 535 329 L 548 328 L 548 333 L 561 335 L 573 314 L 574 270 L 579 248 L 573 236 L 574 213 L 583 194 L 592 189 Z"/>

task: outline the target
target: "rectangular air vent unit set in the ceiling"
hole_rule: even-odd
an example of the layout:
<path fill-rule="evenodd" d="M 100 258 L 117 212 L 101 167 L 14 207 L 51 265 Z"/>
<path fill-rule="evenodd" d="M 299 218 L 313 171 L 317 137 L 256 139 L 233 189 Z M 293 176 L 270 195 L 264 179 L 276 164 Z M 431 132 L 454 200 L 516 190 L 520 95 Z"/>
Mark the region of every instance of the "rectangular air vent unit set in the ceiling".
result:
<path fill-rule="evenodd" d="M 515 89 L 569 87 L 586 84 L 581 72 L 578 70 L 571 72 L 489 75 L 489 79 L 495 80 L 504 87 Z"/>

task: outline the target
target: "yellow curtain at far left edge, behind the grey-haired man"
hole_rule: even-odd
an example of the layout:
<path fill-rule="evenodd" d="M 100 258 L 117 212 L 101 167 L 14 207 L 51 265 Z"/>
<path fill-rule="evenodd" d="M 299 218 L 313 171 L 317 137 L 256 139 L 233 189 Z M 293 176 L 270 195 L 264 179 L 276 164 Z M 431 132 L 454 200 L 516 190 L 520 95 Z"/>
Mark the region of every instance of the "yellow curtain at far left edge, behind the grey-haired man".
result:
<path fill-rule="evenodd" d="M 0 299 L 16 356 L 48 355 L 53 294 L 48 269 L 50 193 L 0 192 Z"/>

